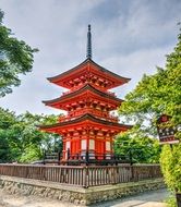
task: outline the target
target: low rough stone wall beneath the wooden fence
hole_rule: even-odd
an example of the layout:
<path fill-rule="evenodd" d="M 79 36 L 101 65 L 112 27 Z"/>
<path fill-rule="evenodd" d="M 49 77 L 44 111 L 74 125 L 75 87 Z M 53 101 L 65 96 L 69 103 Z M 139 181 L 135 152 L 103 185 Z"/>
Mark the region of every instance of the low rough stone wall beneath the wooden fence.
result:
<path fill-rule="evenodd" d="M 0 188 L 10 194 L 36 195 L 83 206 L 161 187 L 165 187 L 161 179 L 84 188 L 47 181 L 0 175 Z"/>

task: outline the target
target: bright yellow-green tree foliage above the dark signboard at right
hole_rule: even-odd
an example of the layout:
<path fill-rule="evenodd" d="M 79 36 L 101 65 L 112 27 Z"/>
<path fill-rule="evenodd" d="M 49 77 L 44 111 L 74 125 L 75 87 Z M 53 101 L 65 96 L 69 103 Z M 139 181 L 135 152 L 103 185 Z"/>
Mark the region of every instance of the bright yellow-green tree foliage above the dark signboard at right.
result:
<path fill-rule="evenodd" d="M 173 124 L 181 123 L 181 34 L 173 52 L 167 56 L 165 69 L 157 68 L 156 74 L 144 75 L 125 96 L 119 112 L 152 134 L 162 113 L 172 117 Z"/>

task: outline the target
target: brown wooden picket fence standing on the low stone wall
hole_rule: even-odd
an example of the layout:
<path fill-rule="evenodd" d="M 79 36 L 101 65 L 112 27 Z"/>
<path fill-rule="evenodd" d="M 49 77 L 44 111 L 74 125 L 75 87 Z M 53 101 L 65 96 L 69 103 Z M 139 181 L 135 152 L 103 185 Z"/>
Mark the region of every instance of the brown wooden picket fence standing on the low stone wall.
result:
<path fill-rule="evenodd" d="M 33 166 L 2 165 L 0 175 L 58 182 L 76 186 L 98 186 L 161 178 L 159 165 L 141 166 Z"/>

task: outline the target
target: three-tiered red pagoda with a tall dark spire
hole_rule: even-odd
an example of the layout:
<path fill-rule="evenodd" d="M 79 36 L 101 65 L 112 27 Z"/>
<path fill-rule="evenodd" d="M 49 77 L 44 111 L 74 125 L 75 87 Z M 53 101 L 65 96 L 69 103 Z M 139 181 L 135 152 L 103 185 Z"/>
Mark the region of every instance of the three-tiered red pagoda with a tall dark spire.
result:
<path fill-rule="evenodd" d="M 58 123 L 39 129 L 57 133 L 63 142 L 61 163 L 69 161 L 111 160 L 114 136 L 131 126 L 120 124 L 110 114 L 123 101 L 109 89 L 130 81 L 106 70 L 92 60 L 90 25 L 87 32 L 86 60 L 53 77 L 50 83 L 68 89 L 59 98 L 43 101 L 46 106 L 67 111 Z"/>

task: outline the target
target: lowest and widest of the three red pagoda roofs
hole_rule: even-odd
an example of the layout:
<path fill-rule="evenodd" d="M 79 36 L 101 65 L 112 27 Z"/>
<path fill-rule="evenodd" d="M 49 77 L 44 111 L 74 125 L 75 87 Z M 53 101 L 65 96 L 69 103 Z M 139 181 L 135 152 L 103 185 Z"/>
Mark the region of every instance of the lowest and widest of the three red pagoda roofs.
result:
<path fill-rule="evenodd" d="M 120 124 L 117 122 L 110 122 L 110 121 L 106 121 L 104 119 L 98 119 L 95 118 L 94 115 L 86 113 L 80 118 L 72 118 L 69 121 L 64 121 L 64 122 L 59 122 L 56 124 L 51 124 L 51 125 L 39 125 L 38 127 L 43 131 L 47 131 L 47 132 L 57 132 L 58 130 L 61 130 L 61 127 L 65 127 L 65 126 L 71 126 L 71 125 L 75 125 L 75 124 L 82 124 L 82 122 L 84 124 L 88 123 L 88 121 L 90 121 L 92 123 L 98 123 L 101 125 L 106 125 L 106 127 L 117 127 L 117 129 L 122 129 L 122 130 L 129 130 L 132 127 L 132 125 L 125 125 L 125 124 Z"/>

